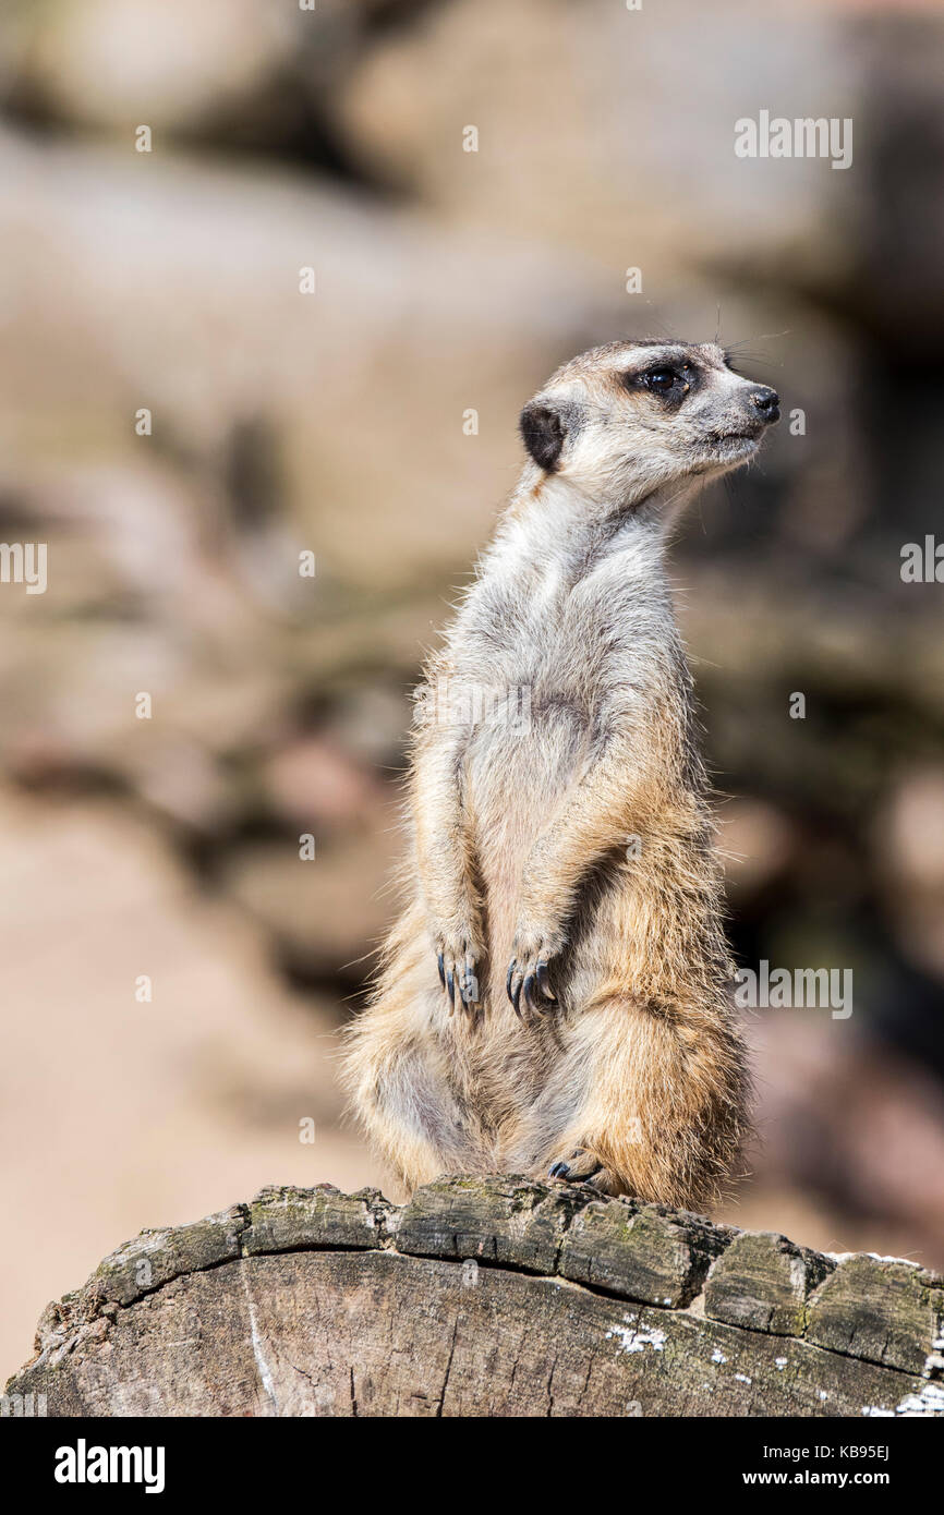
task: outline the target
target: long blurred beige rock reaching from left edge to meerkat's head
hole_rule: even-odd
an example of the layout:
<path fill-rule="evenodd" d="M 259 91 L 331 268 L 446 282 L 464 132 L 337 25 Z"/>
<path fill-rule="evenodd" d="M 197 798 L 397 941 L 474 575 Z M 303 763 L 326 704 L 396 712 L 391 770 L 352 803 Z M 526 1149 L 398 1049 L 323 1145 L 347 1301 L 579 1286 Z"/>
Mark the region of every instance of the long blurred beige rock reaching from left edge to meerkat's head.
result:
<path fill-rule="evenodd" d="M 614 329 L 615 303 L 605 318 L 573 261 L 289 177 L 9 136 L 0 164 L 11 467 L 29 477 L 67 423 L 86 448 L 124 435 L 135 458 L 171 448 L 211 467 L 233 417 L 262 417 L 291 536 L 353 580 L 421 577 L 456 561 L 458 535 L 480 539 L 512 483 L 523 398 Z M 299 292 L 308 265 L 314 295 Z M 133 435 L 144 405 L 153 438 Z"/>

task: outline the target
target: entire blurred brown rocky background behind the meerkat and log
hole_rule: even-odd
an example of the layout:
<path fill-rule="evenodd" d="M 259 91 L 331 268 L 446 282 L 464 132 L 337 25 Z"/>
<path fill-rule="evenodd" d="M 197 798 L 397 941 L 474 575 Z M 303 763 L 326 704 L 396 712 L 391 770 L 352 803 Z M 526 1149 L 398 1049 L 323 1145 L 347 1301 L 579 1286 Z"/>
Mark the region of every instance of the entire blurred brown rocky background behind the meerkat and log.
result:
<path fill-rule="evenodd" d="M 752 1017 L 726 1214 L 944 1265 L 944 591 L 900 579 L 941 517 L 942 52 L 877 0 L 5 6 L 0 536 L 48 542 L 44 595 L 0 586 L 6 1370 L 139 1227 L 382 1182 L 335 1062 L 409 688 L 521 403 L 620 335 L 720 327 L 806 414 L 674 559 L 738 957 L 855 971 L 850 1020 Z M 852 168 L 736 159 L 761 109 L 852 117 Z"/>

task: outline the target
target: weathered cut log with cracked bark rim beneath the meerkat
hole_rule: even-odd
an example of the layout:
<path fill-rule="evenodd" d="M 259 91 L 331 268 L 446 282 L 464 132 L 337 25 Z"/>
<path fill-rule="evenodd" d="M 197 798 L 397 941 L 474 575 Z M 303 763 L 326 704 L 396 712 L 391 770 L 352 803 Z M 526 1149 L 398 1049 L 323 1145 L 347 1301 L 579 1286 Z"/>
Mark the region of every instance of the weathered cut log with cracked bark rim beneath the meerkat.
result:
<path fill-rule="evenodd" d="M 106 1257 L 5 1410 L 942 1415 L 942 1314 L 914 1264 L 588 1189 L 271 1188 Z"/>

